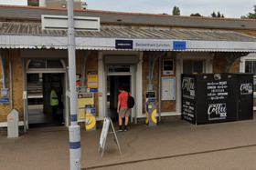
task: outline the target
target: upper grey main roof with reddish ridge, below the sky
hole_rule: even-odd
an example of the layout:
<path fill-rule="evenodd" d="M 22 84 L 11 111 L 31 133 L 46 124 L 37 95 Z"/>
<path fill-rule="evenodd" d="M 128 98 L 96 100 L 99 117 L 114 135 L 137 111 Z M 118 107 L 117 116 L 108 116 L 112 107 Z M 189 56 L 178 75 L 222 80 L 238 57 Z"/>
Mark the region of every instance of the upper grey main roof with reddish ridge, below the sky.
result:
<path fill-rule="evenodd" d="M 31 6 L 0 5 L 0 17 L 27 18 L 40 20 L 41 15 L 68 15 L 66 9 L 51 9 Z M 248 19 L 221 19 L 208 17 L 189 17 L 173 15 L 150 15 L 136 13 L 119 13 L 96 10 L 75 10 L 77 16 L 101 17 L 104 24 L 162 25 L 207 27 L 225 29 L 256 29 L 256 21 Z"/>

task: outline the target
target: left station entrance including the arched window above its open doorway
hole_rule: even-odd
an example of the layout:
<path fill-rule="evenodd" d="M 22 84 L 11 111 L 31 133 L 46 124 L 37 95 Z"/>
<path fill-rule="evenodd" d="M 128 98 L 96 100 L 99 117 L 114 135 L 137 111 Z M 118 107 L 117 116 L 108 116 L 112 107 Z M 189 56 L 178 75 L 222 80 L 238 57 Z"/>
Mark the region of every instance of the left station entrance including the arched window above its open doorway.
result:
<path fill-rule="evenodd" d="M 28 128 L 64 126 L 67 123 L 68 86 L 65 64 L 61 60 L 29 60 L 26 69 L 26 126 Z M 56 112 L 50 105 L 55 87 L 59 98 Z"/>

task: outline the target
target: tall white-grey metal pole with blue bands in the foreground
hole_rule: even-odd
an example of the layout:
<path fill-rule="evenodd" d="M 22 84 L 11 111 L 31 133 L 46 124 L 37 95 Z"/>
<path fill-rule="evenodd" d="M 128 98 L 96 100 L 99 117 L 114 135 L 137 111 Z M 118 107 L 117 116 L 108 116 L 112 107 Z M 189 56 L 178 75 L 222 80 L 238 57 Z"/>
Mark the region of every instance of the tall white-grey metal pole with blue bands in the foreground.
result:
<path fill-rule="evenodd" d="M 73 0 L 68 0 L 68 44 L 69 44 L 69 95 L 70 121 L 69 156 L 70 170 L 80 170 L 80 126 L 78 125 L 77 92 L 76 92 L 76 44 L 74 29 Z"/>

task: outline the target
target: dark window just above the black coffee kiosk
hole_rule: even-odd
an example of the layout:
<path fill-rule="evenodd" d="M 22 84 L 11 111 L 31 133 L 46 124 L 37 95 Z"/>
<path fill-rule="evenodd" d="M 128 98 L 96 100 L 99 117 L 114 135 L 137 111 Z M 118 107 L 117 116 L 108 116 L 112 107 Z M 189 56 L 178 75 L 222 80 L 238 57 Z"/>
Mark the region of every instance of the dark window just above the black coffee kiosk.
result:
<path fill-rule="evenodd" d="M 184 74 L 203 73 L 203 61 L 183 61 Z"/>

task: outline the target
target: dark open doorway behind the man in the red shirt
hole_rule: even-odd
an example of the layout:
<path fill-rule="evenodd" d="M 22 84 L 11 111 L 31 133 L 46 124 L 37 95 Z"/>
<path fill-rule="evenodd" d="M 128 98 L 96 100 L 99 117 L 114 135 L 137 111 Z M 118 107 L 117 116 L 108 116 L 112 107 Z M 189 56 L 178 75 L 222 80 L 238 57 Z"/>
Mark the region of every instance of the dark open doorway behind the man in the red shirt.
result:
<path fill-rule="evenodd" d="M 107 115 L 112 121 L 118 121 L 117 103 L 118 88 L 123 86 L 124 91 L 131 92 L 131 75 L 108 75 L 107 76 Z"/>

